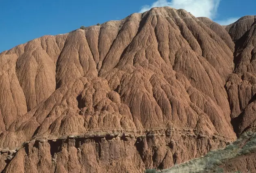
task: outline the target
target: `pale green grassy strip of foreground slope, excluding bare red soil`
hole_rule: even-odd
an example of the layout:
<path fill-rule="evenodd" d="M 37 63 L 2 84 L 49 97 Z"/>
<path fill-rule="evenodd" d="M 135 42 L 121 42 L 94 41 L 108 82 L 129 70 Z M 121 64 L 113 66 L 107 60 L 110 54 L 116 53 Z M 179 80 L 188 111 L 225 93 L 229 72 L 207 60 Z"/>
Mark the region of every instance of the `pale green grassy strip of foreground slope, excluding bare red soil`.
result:
<path fill-rule="evenodd" d="M 196 158 L 188 162 L 175 165 L 170 169 L 159 172 L 163 173 L 204 173 L 204 172 L 223 172 L 219 167 L 228 160 L 237 156 L 247 155 L 256 152 L 256 133 L 246 132 L 234 143 L 224 149 L 210 151 L 202 158 Z M 146 173 L 158 172 L 153 169 L 146 170 Z"/>

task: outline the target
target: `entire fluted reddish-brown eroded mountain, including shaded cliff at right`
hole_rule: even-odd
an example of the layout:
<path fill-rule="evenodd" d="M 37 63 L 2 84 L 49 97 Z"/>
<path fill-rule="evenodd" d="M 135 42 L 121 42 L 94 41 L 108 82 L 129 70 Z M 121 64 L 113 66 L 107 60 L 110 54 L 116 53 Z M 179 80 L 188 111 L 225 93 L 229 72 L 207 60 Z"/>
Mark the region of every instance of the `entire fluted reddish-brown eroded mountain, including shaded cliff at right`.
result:
<path fill-rule="evenodd" d="M 143 172 L 224 147 L 256 125 L 255 21 L 153 8 L 0 53 L 0 170 Z"/>

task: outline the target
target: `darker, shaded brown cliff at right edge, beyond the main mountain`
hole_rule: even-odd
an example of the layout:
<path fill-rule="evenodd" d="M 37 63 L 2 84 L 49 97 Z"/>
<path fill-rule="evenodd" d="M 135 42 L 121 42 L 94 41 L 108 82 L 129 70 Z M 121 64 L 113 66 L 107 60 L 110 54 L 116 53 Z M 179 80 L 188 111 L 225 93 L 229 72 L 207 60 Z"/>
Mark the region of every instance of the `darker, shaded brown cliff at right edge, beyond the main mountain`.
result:
<path fill-rule="evenodd" d="M 256 16 L 245 16 L 226 27 L 235 43 L 234 65 L 225 85 L 232 125 L 240 136 L 256 125 Z"/>

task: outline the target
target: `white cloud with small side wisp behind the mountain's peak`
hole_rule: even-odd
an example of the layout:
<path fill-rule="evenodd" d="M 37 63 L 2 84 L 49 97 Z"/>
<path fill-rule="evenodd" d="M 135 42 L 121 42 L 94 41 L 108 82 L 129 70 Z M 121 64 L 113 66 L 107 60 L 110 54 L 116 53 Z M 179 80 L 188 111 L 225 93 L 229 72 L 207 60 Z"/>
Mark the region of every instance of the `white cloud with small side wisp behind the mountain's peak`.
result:
<path fill-rule="evenodd" d="M 216 18 L 217 9 L 220 0 L 157 0 L 151 5 L 141 7 L 139 13 L 150 10 L 153 7 L 171 6 L 175 9 L 185 9 L 195 17 L 208 17 L 212 20 Z M 235 22 L 238 18 L 232 17 L 225 20 L 217 21 L 221 25 L 227 25 Z"/>

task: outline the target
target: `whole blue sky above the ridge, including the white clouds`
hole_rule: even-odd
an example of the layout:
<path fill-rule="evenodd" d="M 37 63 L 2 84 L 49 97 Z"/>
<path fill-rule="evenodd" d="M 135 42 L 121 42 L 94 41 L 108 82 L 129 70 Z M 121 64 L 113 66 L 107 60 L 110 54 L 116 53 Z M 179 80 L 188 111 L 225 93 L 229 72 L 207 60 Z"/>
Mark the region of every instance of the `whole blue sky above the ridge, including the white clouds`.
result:
<path fill-rule="evenodd" d="M 122 19 L 153 6 L 172 6 L 229 24 L 256 15 L 255 0 L 0 0 L 0 52 L 43 35 Z"/>

